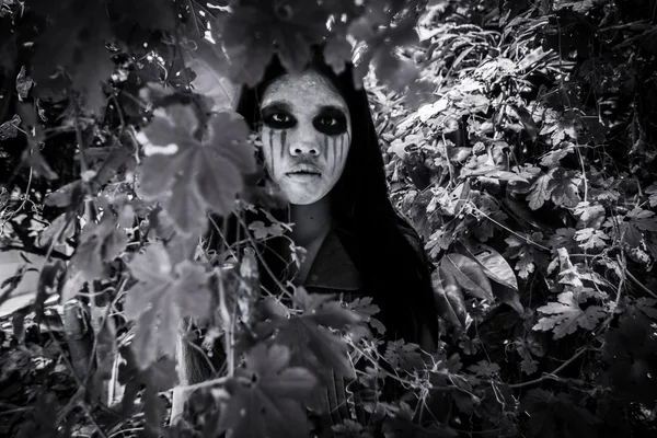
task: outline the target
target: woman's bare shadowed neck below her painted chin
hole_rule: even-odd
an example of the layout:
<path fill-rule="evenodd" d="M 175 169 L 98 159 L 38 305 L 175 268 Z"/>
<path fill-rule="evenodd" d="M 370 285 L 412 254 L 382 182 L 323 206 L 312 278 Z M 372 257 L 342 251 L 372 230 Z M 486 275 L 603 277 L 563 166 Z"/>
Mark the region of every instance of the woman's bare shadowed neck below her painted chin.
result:
<path fill-rule="evenodd" d="M 308 245 L 331 230 L 331 219 L 328 196 L 324 196 L 314 204 L 290 204 L 290 221 L 295 223 L 290 237 L 295 244 Z"/>

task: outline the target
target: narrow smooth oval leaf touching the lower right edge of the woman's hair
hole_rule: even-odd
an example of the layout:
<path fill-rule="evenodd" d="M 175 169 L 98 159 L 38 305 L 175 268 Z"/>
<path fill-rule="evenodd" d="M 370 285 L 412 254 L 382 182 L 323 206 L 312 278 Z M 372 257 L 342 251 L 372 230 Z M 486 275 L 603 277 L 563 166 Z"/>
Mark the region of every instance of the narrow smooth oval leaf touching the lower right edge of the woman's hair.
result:
<path fill-rule="evenodd" d="M 465 328 L 468 312 L 463 292 L 454 276 L 443 267 L 431 274 L 438 315 L 456 327 Z"/>

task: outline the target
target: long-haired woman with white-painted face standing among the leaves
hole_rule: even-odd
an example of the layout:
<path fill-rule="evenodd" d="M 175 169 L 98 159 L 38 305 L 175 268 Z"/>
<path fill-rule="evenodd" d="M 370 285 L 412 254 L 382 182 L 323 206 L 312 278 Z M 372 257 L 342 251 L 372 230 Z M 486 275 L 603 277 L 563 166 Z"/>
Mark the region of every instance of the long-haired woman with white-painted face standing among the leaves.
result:
<path fill-rule="evenodd" d="M 438 316 L 428 263 L 417 233 L 389 200 L 367 93 L 355 89 L 350 65 L 336 74 L 321 50 L 314 54 L 299 74 L 286 72 L 275 58 L 237 102 L 237 112 L 260 132 L 267 177 L 289 200 L 274 216 L 293 223 L 289 238 L 307 250 L 296 268 L 286 253 L 289 241 L 267 241 L 263 286 L 276 290 L 277 280 L 291 280 L 347 302 L 372 297 L 387 339 L 434 350 Z M 339 412 L 341 384 L 327 390 L 333 417 L 320 420 L 324 431 L 327 422 L 346 415 Z"/>

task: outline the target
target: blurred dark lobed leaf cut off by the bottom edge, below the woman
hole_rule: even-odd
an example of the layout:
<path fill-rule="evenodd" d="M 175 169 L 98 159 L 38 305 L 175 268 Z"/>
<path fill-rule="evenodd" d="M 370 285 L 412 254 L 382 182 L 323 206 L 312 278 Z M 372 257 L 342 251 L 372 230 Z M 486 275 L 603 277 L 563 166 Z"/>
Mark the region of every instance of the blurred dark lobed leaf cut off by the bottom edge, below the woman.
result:
<path fill-rule="evenodd" d="M 226 388 L 231 397 L 215 433 L 231 437 L 308 437 L 310 425 L 298 402 L 310 395 L 316 378 L 309 370 L 289 367 L 290 351 L 281 345 L 261 343 L 235 370 Z"/>

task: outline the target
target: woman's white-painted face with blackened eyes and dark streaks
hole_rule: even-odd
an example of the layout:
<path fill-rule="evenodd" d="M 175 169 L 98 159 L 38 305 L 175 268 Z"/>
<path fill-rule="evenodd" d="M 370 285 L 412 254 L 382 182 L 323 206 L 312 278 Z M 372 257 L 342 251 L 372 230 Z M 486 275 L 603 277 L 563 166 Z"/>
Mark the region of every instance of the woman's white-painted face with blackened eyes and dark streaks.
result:
<path fill-rule="evenodd" d="M 265 164 L 290 204 L 313 204 L 335 186 L 351 146 L 347 104 L 323 76 L 281 76 L 261 100 Z"/>

